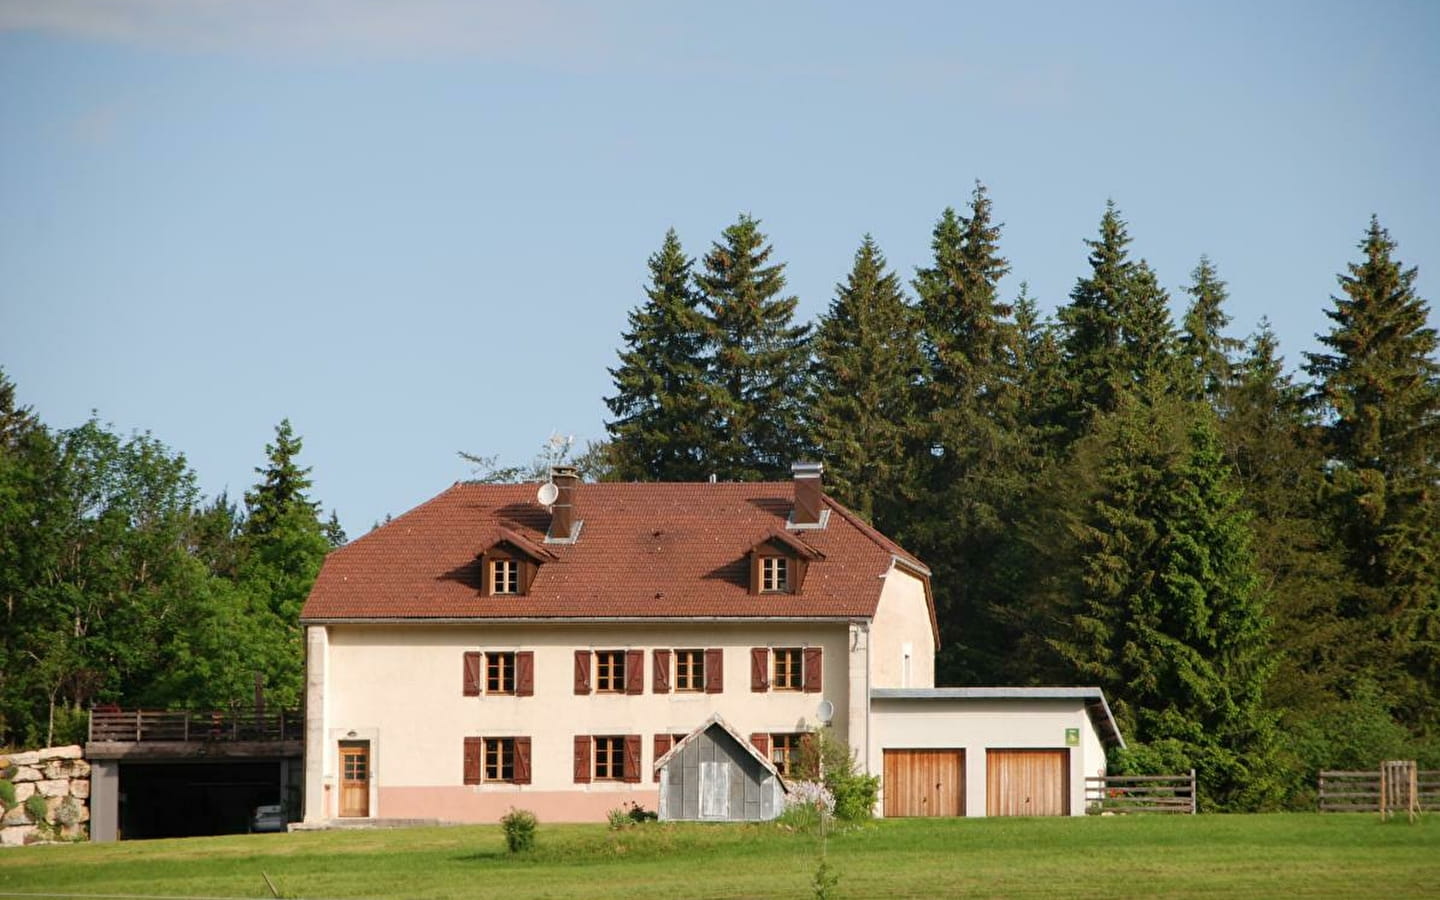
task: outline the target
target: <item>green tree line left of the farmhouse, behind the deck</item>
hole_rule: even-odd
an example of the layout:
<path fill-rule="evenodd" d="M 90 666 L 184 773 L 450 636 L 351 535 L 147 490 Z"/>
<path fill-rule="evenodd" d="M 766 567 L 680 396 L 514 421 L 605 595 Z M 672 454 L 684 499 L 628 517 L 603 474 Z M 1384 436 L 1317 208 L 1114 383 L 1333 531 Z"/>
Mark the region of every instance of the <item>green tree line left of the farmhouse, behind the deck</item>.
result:
<path fill-rule="evenodd" d="M 95 704 L 295 707 L 300 608 L 325 553 L 288 420 L 243 505 L 95 418 L 46 426 L 0 370 L 0 747 L 85 740 Z"/>

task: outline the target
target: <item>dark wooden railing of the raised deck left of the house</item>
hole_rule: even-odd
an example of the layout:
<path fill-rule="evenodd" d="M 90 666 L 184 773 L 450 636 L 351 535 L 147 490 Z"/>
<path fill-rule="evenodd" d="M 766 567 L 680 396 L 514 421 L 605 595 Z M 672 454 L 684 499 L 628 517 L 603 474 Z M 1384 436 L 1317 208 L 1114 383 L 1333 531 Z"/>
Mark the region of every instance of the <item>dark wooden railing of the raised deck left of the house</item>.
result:
<path fill-rule="evenodd" d="M 89 740 L 300 740 L 304 724 L 298 710 L 91 710 Z"/>

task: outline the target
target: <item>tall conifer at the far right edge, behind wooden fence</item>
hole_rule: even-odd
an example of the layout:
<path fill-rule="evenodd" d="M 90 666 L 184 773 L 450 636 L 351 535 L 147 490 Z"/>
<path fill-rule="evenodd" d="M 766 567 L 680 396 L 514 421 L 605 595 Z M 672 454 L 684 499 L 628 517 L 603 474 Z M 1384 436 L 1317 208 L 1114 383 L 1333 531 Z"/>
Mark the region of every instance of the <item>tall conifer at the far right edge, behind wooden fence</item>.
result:
<path fill-rule="evenodd" d="M 1401 662 L 1391 690 L 1416 726 L 1440 726 L 1440 363 L 1417 269 L 1371 217 L 1364 259 L 1339 276 L 1333 323 L 1308 353 L 1326 415 L 1331 495 L 1349 564 L 1365 586 L 1349 612 L 1371 619 Z"/>

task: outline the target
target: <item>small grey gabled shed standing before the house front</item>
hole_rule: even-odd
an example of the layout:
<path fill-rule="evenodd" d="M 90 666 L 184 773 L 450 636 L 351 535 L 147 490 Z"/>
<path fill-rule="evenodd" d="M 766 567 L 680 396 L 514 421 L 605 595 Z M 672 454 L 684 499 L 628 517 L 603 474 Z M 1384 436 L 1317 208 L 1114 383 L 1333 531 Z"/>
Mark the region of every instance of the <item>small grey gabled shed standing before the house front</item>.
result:
<path fill-rule="evenodd" d="M 775 765 L 719 713 L 655 760 L 660 818 L 760 822 L 785 808 L 789 791 Z"/>

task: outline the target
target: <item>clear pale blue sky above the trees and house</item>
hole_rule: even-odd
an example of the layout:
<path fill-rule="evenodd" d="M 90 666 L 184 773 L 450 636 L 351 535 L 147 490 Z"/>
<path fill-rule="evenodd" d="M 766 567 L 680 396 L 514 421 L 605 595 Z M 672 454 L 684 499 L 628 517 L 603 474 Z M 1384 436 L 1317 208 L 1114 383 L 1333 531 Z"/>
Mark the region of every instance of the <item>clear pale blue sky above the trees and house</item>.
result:
<path fill-rule="evenodd" d="M 674 226 L 829 304 L 976 179 L 1044 310 L 1107 199 L 1297 364 L 1377 213 L 1440 294 L 1440 4 L 0 0 L 0 366 L 238 497 L 288 416 L 351 536 L 605 435 Z"/>

